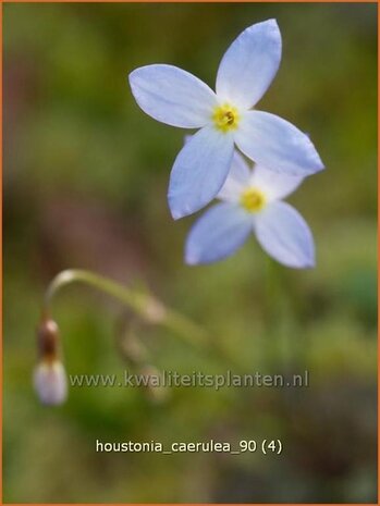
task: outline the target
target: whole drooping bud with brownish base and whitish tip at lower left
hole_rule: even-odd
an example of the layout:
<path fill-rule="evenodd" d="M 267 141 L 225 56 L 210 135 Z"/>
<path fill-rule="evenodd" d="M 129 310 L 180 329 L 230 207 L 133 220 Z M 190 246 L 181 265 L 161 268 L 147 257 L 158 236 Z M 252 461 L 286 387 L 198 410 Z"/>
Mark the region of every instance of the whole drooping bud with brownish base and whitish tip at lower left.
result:
<path fill-rule="evenodd" d="M 37 340 L 39 362 L 34 372 L 34 387 L 42 404 L 62 404 L 68 396 L 68 380 L 59 359 L 57 323 L 44 318 L 37 331 Z"/>

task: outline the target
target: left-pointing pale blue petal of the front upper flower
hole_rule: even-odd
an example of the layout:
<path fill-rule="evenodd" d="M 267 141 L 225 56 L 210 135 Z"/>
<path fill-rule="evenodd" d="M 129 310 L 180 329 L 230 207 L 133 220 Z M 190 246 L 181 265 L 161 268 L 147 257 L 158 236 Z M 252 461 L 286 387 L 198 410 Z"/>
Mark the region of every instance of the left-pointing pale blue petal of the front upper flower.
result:
<path fill-rule="evenodd" d="M 132 94 L 144 112 L 172 126 L 198 128 L 210 122 L 216 94 L 173 65 L 147 65 L 130 74 Z"/>

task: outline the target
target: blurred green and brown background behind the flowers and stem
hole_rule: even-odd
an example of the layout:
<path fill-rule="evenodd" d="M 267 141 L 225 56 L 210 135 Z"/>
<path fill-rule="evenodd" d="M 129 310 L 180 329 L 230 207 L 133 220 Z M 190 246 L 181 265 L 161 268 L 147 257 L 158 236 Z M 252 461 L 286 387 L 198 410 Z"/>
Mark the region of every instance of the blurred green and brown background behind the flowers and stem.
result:
<path fill-rule="evenodd" d="M 280 71 L 258 108 L 310 134 L 327 170 L 291 201 L 317 268 L 268 261 L 252 238 L 209 267 L 183 263 L 194 217 L 173 222 L 168 177 L 184 131 L 135 104 L 126 77 L 171 63 L 213 86 L 247 26 L 275 17 Z M 5 4 L 4 501 L 366 503 L 376 496 L 377 5 Z M 302 372 L 308 388 L 71 388 L 59 408 L 32 387 L 44 289 L 81 267 L 149 286 L 209 330 L 235 372 Z M 268 281 L 268 276 L 270 280 Z M 130 316 L 68 287 L 54 304 L 70 373 L 121 373 Z M 157 368 L 229 362 L 143 325 Z M 95 440 L 281 439 L 259 453 L 96 454 Z"/>

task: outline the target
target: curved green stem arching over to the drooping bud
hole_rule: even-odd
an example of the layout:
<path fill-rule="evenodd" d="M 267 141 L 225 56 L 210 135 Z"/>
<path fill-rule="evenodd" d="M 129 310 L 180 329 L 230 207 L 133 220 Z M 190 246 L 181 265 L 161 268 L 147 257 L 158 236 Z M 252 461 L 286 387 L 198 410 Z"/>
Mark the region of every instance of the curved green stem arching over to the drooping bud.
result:
<path fill-rule="evenodd" d="M 51 300 L 65 285 L 84 283 L 103 292 L 131 308 L 149 323 L 162 325 L 179 334 L 184 341 L 195 346 L 209 344 L 206 332 L 197 324 L 163 306 L 152 295 L 132 291 L 108 277 L 81 269 L 68 269 L 60 272 L 50 282 L 46 294 L 44 312 L 49 313 Z"/>

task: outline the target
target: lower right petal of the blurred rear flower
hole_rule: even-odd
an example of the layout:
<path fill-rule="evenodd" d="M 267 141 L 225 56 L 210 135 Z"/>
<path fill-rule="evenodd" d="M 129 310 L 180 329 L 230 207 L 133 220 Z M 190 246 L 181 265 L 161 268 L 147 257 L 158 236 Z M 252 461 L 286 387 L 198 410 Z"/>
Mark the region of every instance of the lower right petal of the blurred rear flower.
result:
<path fill-rule="evenodd" d="M 255 218 L 257 240 L 280 263 L 295 269 L 315 266 L 314 240 L 305 220 L 286 202 L 272 202 Z"/>

